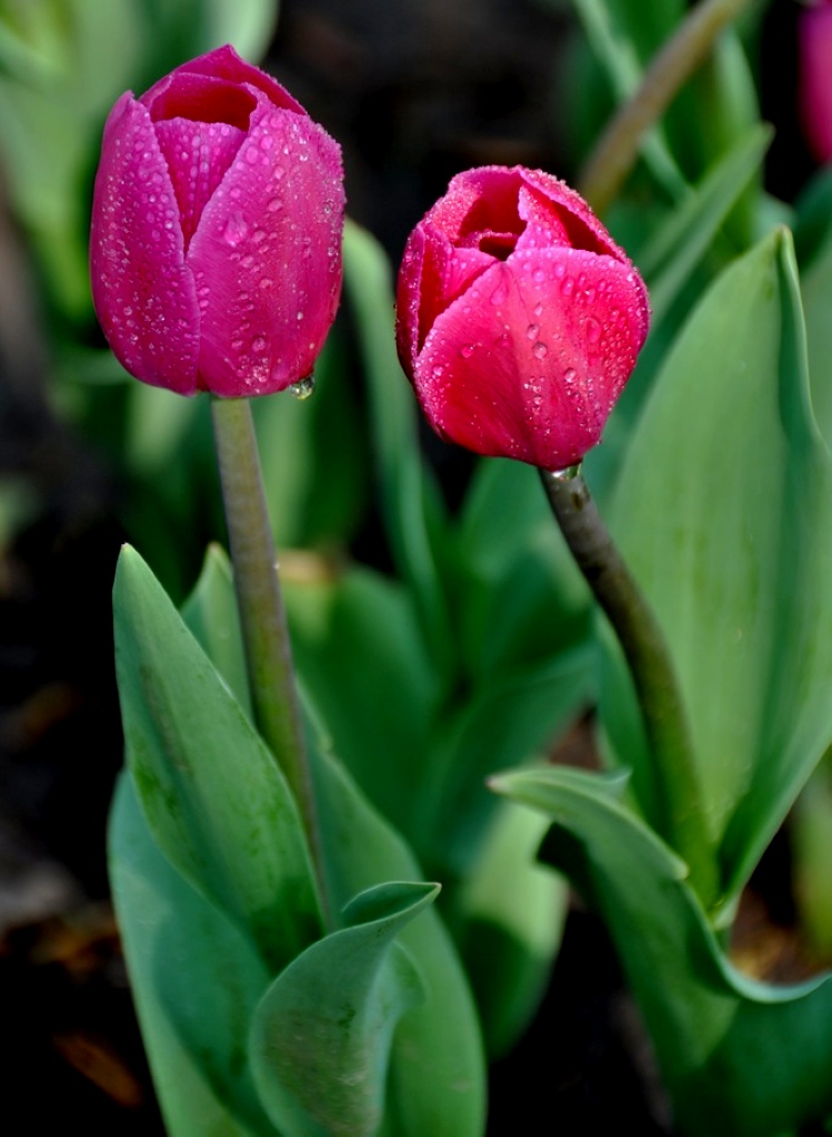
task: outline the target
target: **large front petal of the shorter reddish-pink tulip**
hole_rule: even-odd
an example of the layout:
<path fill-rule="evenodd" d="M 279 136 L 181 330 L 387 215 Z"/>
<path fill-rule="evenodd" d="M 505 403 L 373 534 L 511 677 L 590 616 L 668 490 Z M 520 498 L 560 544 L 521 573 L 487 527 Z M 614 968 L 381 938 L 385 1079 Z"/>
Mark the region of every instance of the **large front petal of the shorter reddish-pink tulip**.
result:
<path fill-rule="evenodd" d="M 600 440 L 646 329 L 628 264 L 559 246 L 518 250 L 437 318 L 414 385 L 444 437 L 559 470 Z"/>

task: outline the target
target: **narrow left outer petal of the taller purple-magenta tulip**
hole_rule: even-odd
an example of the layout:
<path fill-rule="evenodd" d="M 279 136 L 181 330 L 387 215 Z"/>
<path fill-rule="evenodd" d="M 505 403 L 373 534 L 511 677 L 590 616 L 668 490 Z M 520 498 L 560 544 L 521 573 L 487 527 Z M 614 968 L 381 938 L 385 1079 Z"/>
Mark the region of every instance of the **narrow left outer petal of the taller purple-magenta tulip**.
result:
<path fill-rule="evenodd" d="M 130 93 L 107 119 L 92 214 L 92 294 L 116 357 L 146 383 L 192 395 L 199 309 L 179 206 L 150 116 Z"/>

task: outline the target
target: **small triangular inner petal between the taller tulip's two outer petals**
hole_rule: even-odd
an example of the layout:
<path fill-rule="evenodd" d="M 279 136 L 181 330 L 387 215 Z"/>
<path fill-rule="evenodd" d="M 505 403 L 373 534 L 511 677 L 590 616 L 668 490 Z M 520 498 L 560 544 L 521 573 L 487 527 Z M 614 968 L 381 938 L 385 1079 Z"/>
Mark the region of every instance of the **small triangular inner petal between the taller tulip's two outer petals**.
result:
<path fill-rule="evenodd" d="M 156 138 L 179 202 L 186 249 L 208 199 L 225 176 L 245 136 L 244 131 L 228 123 L 195 123 L 189 118 L 156 123 Z"/>

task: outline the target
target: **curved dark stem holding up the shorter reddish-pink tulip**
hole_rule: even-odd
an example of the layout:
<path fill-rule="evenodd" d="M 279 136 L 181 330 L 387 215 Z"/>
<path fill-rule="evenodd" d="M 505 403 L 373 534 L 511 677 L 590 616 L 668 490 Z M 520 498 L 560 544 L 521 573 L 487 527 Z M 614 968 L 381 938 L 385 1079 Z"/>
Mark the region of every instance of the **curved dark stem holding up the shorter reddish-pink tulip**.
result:
<path fill-rule="evenodd" d="M 693 746 L 670 653 L 652 611 L 601 520 L 579 466 L 541 472 L 552 512 L 624 649 L 653 760 L 660 831 L 710 905 L 717 872 L 705 828 Z"/>

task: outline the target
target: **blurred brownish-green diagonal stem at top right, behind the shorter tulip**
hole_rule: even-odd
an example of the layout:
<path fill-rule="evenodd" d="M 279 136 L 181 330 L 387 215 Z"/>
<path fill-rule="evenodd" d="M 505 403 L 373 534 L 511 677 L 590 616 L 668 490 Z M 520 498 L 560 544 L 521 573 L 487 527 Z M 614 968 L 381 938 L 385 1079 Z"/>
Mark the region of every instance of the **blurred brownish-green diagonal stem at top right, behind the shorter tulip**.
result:
<path fill-rule="evenodd" d="M 641 86 L 610 119 L 578 179 L 578 190 L 596 213 L 603 214 L 616 198 L 635 165 L 644 134 L 748 3 L 700 0 L 652 60 Z"/>

